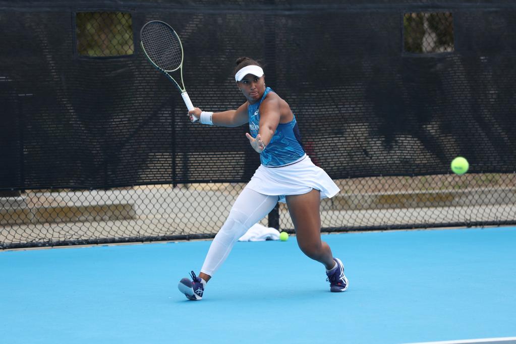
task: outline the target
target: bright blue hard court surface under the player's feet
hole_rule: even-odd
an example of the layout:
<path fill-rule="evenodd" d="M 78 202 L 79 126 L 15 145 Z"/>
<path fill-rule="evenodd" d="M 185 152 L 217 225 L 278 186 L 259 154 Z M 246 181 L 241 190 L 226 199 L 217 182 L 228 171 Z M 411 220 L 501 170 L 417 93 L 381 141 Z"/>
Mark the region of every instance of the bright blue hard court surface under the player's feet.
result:
<path fill-rule="evenodd" d="M 211 241 L 0 252 L 5 343 L 408 343 L 516 336 L 516 228 L 323 235 L 350 287 L 295 238 L 238 242 L 186 300 Z"/>

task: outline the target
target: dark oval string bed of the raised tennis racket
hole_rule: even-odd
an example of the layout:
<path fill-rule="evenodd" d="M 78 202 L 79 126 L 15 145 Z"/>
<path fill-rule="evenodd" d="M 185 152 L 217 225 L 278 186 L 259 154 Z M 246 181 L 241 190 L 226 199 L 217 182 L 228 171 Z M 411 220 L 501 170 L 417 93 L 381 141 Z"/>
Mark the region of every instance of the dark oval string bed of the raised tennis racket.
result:
<path fill-rule="evenodd" d="M 162 23 L 150 23 L 141 32 L 141 42 L 149 58 L 166 71 L 180 67 L 183 49 L 178 35 Z"/>

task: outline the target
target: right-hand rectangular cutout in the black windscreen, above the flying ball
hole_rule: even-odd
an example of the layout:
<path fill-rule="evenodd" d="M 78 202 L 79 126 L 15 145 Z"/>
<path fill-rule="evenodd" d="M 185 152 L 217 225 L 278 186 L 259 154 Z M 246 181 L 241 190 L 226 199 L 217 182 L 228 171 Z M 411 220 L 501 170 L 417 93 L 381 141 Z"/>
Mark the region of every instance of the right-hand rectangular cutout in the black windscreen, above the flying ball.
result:
<path fill-rule="evenodd" d="M 405 13 L 403 28 L 406 53 L 454 51 L 453 14 L 450 12 Z"/>

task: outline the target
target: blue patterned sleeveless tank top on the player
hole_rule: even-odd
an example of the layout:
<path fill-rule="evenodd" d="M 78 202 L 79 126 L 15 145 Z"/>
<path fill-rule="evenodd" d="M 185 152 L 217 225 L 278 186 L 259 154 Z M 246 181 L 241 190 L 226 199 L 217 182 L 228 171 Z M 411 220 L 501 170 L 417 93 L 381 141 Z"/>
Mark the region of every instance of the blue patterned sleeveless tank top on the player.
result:
<path fill-rule="evenodd" d="M 267 87 L 262 99 L 255 104 L 249 104 L 247 114 L 249 116 L 249 134 L 256 138 L 260 130 L 260 104 L 269 92 L 274 92 Z M 301 144 L 301 135 L 296 122 L 296 116 L 288 123 L 279 123 L 272 139 L 265 149 L 260 153 L 262 165 L 277 167 L 288 165 L 304 156 L 304 149 Z"/>

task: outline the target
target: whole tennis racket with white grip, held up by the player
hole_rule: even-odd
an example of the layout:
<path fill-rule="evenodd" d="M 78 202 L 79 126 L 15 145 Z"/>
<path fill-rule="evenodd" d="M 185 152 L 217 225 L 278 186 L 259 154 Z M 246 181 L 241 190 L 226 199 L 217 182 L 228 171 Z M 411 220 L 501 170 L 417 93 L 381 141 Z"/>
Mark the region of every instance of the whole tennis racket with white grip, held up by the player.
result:
<path fill-rule="evenodd" d="M 178 87 L 188 110 L 192 102 L 183 83 L 183 45 L 178 34 L 165 22 L 153 20 L 140 30 L 140 45 L 147 59 Z M 171 75 L 175 75 L 175 78 Z M 181 84 L 178 81 L 181 81 Z M 195 121 L 197 117 L 192 116 Z"/>

